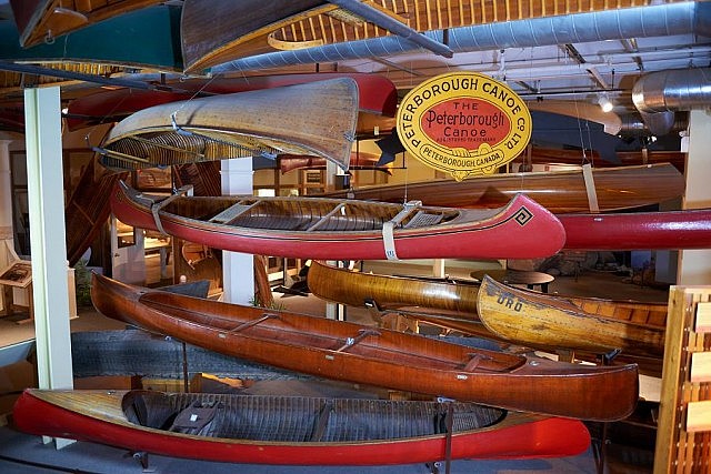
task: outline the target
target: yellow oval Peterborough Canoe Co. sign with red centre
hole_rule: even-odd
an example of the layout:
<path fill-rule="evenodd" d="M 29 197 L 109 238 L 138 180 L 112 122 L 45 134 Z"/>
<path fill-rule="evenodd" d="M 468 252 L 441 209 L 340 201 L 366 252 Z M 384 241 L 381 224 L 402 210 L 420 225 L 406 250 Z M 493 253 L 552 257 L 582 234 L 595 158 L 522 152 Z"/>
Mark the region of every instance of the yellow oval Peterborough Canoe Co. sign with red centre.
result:
<path fill-rule="evenodd" d="M 397 128 L 417 159 L 461 181 L 518 157 L 531 139 L 531 113 L 503 82 L 453 72 L 412 89 L 400 103 Z"/>

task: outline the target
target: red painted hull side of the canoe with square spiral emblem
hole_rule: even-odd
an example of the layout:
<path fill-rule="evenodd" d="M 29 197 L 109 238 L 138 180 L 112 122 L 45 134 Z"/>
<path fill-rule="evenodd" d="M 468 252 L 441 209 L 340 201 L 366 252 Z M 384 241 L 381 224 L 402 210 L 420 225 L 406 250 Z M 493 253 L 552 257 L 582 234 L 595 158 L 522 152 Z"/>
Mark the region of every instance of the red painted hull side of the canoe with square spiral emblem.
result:
<path fill-rule="evenodd" d="M 132 199 L 130 192 L 126 186 L 114 189 L 111 195 L 112 212 L 129 225 L 158 230 L 150 206 Z M 310 199 L 302 199 L 304 206 L 308 205 Z M 316 202 L 319 199 L 311 200 Z M 333 205 L 348 202 L 332 201 Z M 363 202 L 356 205 L 371 204 L 380 205 Z M 532 259 L 550 256 L 563 245 L 564 231 L 558 219 L 522 194 L 493 216 L 485 215 L 489 219 L 463 220 L 459 223 L 452 220 L 442 225 L 395 229 L 393 240 L 397 258 Z M 164 231 L 170 235 L 233 252 L 321 260 L 387 258 L 382 229 L 297 232 L 230 226 L 172 214 L 167 210 L 160 211 L 160 218 Z"/>

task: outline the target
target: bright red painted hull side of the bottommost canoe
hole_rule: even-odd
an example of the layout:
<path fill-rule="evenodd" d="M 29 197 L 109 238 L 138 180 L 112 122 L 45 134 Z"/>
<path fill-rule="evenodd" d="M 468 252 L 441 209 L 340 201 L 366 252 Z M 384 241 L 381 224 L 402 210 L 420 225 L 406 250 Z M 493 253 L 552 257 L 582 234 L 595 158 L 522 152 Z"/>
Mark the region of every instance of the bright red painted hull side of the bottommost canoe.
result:
<path fill-rule="evenodd" d="M 515 413 L 512 415 L 529 416 Z M 204 461 L 283 465 L 381 465 L 445 458 L 444 435 L 340 443 L 181 435 L 133 425 L 126 420 L 113 423 L 78 413 L 39 399 L 31 390 L 26 391 L 17 401 L 13 417 L 16 425 L 30 434 Z M 531 416 L 523 423 L 513 423 L 507 427 L 494 425 L 453 434 L 450 456 L 452 460 L 560 457 L 580 454 L 589 444 L 590 434 L 580 421 Z"/>

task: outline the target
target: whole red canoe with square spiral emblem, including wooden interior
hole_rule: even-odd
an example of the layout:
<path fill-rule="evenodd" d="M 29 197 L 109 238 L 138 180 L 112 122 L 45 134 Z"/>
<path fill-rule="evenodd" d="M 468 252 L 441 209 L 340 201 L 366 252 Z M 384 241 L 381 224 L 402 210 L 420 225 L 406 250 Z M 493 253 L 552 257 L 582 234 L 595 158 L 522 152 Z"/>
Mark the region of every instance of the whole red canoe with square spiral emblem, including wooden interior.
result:
<path fill-rule="evenodd" d="M 238 200 L 239 198 L 233 199 Z M 258 199 L 276 203 L 314 203 L 314 205 L 316 203 L 329 203 L 329 210 L 346 203 L 346 206 L 352 206 L 354 212 L 352 216 L 337 215 L 329 228 L 321 225 L 312 232 L 259 228 L 259 225 L 263 225 L 259 221 L 256 221 L 253 226 L 226 225 L 209 222 L 206 220 L 209 216 L 206 215 L 200 218 L 193 215 L 196 212 L 212 212 L 213 214 L 219 212 L 219 209 L 197 211 L 197 206 L 201 205 L 201 202 L 217 202 L 222 205 L 220 203 L 227 202 L 229 199 L 203 198 L 201 201 L 199 198 L 179 198 L 158 212 L 160 226 L 169 234 L 183 240 L 204 243 L 222 250 L 326 260 L 384 259 L 391 258 L 391 255 L 387 253 L 389 238 L 383 228 L 385 222 L 392 222 L 393 216 L 397 215 L 395 211 L 399 212 L 404 205 L 311 196 Z M 179 203 L 184 203 L 184 215 L 174 213 L 181 211 L 178 206 Z M 150 210 L 154 204 L 153 200 L 139 196 L 124 184 L 120 184 L 111 198 L 112 211 L 122 222 L 139 228 L 159 230 Z M 442 258 L 449 256 L 450 253 L 452 256 L 471 258 L 541 256 L 555 253 L 564 242 L 564 231 L 557 218 L 523 194 L 517 194 L 507 205 L 494 210 L 460 210 L 425 205 L 418 206 L 418 209 L 422 214 L 427 214 L 421 224 L 393 229 L 390 239 L 397 249 L 394 258 L 411 259 L 434 255 Z M 293 209 L 289 211 L 287 213 L 281 211 L 279 215 L 296 213 L 296 219 L 307 216 L 311 219 L 311 224 L 322 218 L 321 214 L 311 213 L 311 211 L 307 213 Z M 254 215 L 262 219 L 258 214 Z M 451 219 L 430 224 L 429 215 L 450 215 Z M 264 218 L 267 216 L 273 220 L 274 215 L 264 214 Z M 421 216 L 418 213 L 413 219 L 421 219 Z M 279 225 L 286 226 L 288 223 L 280 221 Z M 346 228 L 346 225 L 350 228 Z M 494 239 L 495 235 L 503 239 L 504 234 L 510 238 L 512 232 L 521 236 L 521 239 L 515 239 L 515 244 Z M 527 235 L 533 234 L 535 235 L 529 236 L 524 241 Z M 477 242 L 481 244 L 477 245 Z M 484 243 L 488 244 L 484 245 Z"/>

